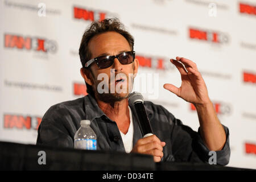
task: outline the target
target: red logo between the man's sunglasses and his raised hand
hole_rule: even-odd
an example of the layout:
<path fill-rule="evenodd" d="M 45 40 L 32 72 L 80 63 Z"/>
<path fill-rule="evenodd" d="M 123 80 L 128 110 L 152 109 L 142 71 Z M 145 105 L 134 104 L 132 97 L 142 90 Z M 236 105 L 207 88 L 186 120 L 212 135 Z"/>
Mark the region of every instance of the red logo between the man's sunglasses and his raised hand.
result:
<path fill-rule="evenodd" d="M 137 55 L 136 59 L 138 59 L 139 61 L 139 66 L 144 68 L 153 68 L 161 70 L 174 68 L 174 65 L 170 62 L 170 59 L 168 58 Z"/>

